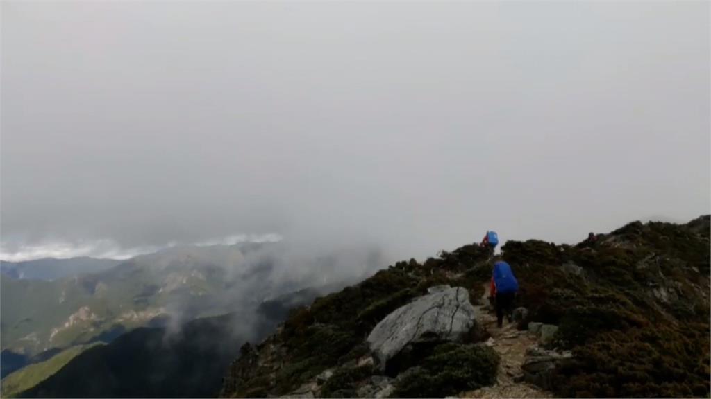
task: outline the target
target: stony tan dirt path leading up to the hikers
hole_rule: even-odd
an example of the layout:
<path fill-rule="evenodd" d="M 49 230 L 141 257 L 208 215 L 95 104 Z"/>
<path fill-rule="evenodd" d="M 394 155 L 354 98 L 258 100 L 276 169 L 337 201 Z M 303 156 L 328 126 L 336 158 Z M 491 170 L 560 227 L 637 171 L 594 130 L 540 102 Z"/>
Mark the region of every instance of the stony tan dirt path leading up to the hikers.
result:
<path fill-rule="evenodd" d="M 515 382 L 521 376 L 521 364 L 525 359 L 526 349 L 536 344 L 535 337 L 525 331 L 518 331 L 515 324 L 503 322 L 503 327 L 496 326 L 496 315 L 488 309 L 488 284 L 484 295 L 477 305 L 477 321 L 491 334 L 488 344 L 501 356 L 496 384 L 478 390 L 461 393 L 463 398 L 552 398 L 552 395 L 540 388 L 524 382 Z"/>

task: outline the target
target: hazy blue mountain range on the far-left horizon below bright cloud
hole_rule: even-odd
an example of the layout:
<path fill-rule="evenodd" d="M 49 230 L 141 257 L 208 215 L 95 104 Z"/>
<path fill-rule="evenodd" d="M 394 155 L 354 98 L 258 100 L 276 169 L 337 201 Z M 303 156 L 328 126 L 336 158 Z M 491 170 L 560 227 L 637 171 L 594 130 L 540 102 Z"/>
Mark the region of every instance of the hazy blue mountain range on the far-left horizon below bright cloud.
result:
<path fill-rule="evenodd" d="M 84 273 L 99 273 L 122 261 L 98 258 L 42 258 L 36 261 L 0 261 L 0 272 L 11 278 L 52 281 Z"/>

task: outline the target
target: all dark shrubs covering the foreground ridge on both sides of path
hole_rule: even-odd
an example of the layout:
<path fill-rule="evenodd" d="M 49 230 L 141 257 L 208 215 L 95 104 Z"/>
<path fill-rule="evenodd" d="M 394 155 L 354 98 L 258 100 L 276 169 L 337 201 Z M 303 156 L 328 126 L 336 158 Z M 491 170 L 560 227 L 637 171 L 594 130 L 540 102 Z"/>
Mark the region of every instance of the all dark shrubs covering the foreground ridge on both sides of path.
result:
<path fill-rule="evenodd" d="M 574 354 L 552 376 L 556 395 L 710 395 L 709 232 L 706 216 L 682 225 L 634 222 L 600 234 L 594 244 L 503 246 L 520 283 L 518 305 L 529 311 L 520 328 L 557 324 L 551 346 Z M 355 395 L 355 381 L 363 377 L 355 359 L 367 353 L 365 338 L 375 324 L 433 285 L 469 288 L 477 300 L 491 278 L 486 259 L 479 246 L 469 245 L 424 263 L 398 262 L 292 310 L 277 334 L 232 364 L 221 394 L 284 395 L 333 368 L 338 378 L 326 393 Z M 471 344 L 486 332 L 470 335 L 464 344 L 402 354 L 397 369 L 387 371 L 400 375 L 395 394 L 442 397 L 491 383 L 496 356 Z"/>

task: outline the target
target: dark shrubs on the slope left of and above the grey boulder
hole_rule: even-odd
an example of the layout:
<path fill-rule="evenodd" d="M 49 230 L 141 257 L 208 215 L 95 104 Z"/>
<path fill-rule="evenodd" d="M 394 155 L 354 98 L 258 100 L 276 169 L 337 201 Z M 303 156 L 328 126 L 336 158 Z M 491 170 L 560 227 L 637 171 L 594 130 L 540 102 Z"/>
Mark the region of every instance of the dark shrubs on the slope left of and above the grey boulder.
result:
<path fill-rule="evenodd" d="M 299 307 L 284 322 L 282 332 L 274 337 L 280 349 L 280 361 L 284 366 L 274 378 L 269 361 L 259 361 L 260 356 L 269 359 L 276 356 L 267 353 L 264 346 L 255 349 L 247 346 L 233 366 L 223 386 L 223 395 L 255 397 L 267 394 L 284 395 L 326 370 L 326 368 L 353 368 L 358 357 L 368 353 L 365 338 L 383 317 L 415 297 L 427 293 L 427 288 L 442 283 L 472 287 L 473 273 L 464 273 L 462 268 L 471 268 L 476 261 L 486 260 L 486 253 L 478 246 L 466 246 L 454 253 L 461 259 L 430 259 L 424 265 L 415 260 L 398 262 L 387 270 L 380 270 L 358 285 L 344 288 L 338 293 L 317 298 L 310 307 Z M 454 263 L 456 262 L 456 264 Z M 444 265 L 445 267 L 440 267 Z M 453 281 L 451 273 L 459 270 Z M 481 284 L 479 284 L 481 285 Z M 481 288 L 474 288 L 481 296 Z M 264 366 L 253 366 L 264 364 Z M 350 374 L 349 374 L 350 375 Z M 338 379 L 336 379 L 338 381 Z M 234 385 L 232 385 L 234 384 Z M 352 387 L 335 386 L 329 383 L 329 395 L 349 395 Z M 346 384 L 348 385 L 348 384 Z"/>

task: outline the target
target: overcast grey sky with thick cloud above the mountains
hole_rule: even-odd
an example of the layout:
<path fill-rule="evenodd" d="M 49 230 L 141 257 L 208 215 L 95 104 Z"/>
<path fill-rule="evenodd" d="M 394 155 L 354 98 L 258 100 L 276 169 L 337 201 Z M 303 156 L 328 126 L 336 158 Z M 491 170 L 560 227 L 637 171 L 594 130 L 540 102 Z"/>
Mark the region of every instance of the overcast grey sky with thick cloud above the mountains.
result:
<path fill-rule="evenodd" d="M 710 212 L 705 1 L 1 7 L 3 258 Z"/>

